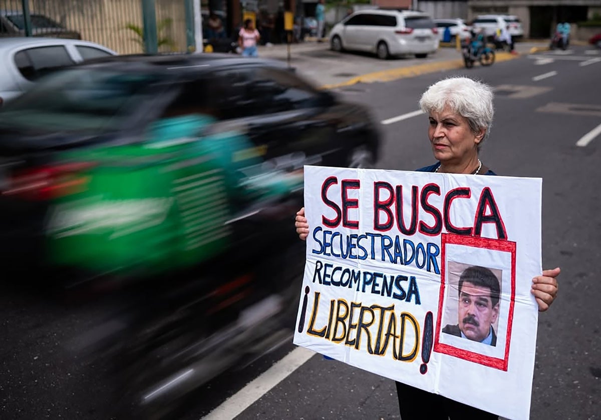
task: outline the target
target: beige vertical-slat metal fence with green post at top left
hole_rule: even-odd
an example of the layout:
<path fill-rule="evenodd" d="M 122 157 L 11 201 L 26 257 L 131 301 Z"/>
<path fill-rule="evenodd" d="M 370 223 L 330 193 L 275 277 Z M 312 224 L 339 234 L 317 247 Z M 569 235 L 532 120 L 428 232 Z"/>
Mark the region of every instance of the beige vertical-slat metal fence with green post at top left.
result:
<path fill-rule="evenodd" d="M 153 52 L 148 40 L 188 51 L 193 25 L 191 0 L 0 0 L 0 37 L 80 38 L 120 54 Z"/>

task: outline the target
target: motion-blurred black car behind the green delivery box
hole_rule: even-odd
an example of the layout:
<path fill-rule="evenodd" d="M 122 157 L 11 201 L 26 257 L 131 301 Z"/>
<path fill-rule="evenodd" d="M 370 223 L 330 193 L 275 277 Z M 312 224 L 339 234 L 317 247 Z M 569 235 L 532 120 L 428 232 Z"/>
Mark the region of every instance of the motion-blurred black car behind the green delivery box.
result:
<path fill-rule="evenodd" d="M 379 137 L 368 115 L 364 107 L 344 103 L 331 92 L 320 91 L 279 62 L 219 54 L 115 56 L 66 68 L 41 80 L 0 112 L 3 266 L 7 269 L 16 266 L 22 274 L 41 270 L 46 279 L 55 274 L 62 281 L 66 281 L 64 269 L 69 268 L 73 272 L 68 281 L 73 283 L 90 275 L 77 272 L 85 271 L 82 270 L 82 265 L 87 266 L 85 262 L 69 267 L 63 259 L 60 269 L 56 268 L 56 255 L 51 251 L 56 243 L 52 241 L 59 235 L 49 233 L 50 228 L 55 228 L 56 217 L 51 217 L 52 212 L 60 203 L 82 194 L 79 187 L 65 187 L 75 185 L 74 179 L 87 183 L 80 185 L 85 187 L 94 184 L 90 178 L 92 181 L 99 178 L 100 175 L 89 172 L 90 165 L 81 161 L 96 160 L 97 155 L 103 154 L 115 154 L 115 159 L 121 156 L 127 161 L 123 150 L 134 147 L 139 149 L 136 153 L 142 154 L 148 150 L 160 151 L 145 146 L 151 142 L 149 130 L 157 124 L 169 122 L 157 135 L 178 137 L 180 131 L 189 130 L 184 128 L 188 127 L 186 118 L 202 117 L 208 121 L 202 130 L 192 128 L 199 132 L 188 131 L 186 135 L 192 135 L 193 139 L 186 137 L 181 144 L 204 145 L 207 141 L 203 142 L 203 136 L 214 138 L 219 133 L 236 132 L 252 144 L 251 154 L 263 167 L 298 171 L 304 164 L 371 166 L 378 157 Z M 171 121 L 173 118 L 176 119 Z M 216 141 L 216 144 L 225 143 Z M 99 148 L 108 151 L 95 152 Z M 230 161 L 233 160 L 231 157 Z M 156 158 L 154 165 L 158 169 L 162 164 Z M 228 170 L 240 172 L 240 169 Z M 125 174 L 116 182 L 130 178 Z M 154 194 L 145 191 L 144 185 L 129 188 L 131 194 Z M 242 214 L 257 205 L 256 200 L 242 199 L 242 194 L 232 188 L 229 207 L 233 214 Z M 103 195 L 109 192 L 116 194 L 113 190 L 96 191 Z M 123 188 L 119 193 L 123 193 Z M 296 191 L 296 195 L 302 193 Z M 76 218 L 89 219 L 97 217 L 97 213 L 80 212 Z M 67 215 L 75 217 L 73 212 Z M 64 217 L 56 223 L 63 226 Z M 106 225 L 107 221 L 94 221 L 96 227 L 99 223 Z M 167 235 L 171 230 L 159 233 Z M 115 235 L 107 236 L 107 244 Z M 100 241 L 97 237 L 93 235 L 91 240 Z M 176 258 L 179 251 L 169 256 L 164 250 L 174 247 L 178 239 L 169 236 L 161 243 L 160 236 L 154 235 L 153 252 L 160 249 L 163 259 Z M 246 238 L 240 240 L 243 239 Z M 72 248 L 83 247 L 76 244 Z M 107 248 L 109 245 L 97 248 L 90 258 L 98 259 L 98 253 Z M 111 259 L 120 258 L 118 254 L 110 255 Z M 145 254 L 138 257 L 144 258 Z M 150 267 L 150 262 L 144 260 L 139 269 Z M 123 260 L 112 266 L 98 266 L 96 271 L 102 273 L 91 275 L 97 279 L 109 272 L 112 276 L 124 265 L 127 264 Z"/>

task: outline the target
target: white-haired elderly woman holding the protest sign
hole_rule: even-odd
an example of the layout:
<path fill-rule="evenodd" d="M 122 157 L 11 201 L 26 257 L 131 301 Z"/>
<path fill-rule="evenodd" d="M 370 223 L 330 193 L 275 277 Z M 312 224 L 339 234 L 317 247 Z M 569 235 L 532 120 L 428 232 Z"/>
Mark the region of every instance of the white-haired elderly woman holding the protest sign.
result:
<path fill-rule="evenodd" d="M 451 77 L 430 86 L 419 100 L 419 106 L 428 115 L 428 137 L 437 162 L 418 171 L 496 175 L 478 157 L 492 126 L 492 101 L 493 93 L 489 86 L 466 77 Z M 297 212 L 294 225 L 299 237 L 307 239 L 309 225 L 304 208 Z M 532 295 L 539 311 L 546 311 L 557 296 L 556 278 L 559 274 L 559 268 L 545 270 L 532 280 Z M 399 382 L 397 396 L 403 420 L 498 418 Z"/>

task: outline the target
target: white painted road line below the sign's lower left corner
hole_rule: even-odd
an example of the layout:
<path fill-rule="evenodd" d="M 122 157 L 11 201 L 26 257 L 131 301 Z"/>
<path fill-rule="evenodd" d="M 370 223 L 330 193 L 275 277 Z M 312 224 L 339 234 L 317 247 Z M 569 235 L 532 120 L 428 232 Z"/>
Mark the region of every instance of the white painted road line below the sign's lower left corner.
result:
<path fill-rule="evenodd" d="M 216 407 L 216 409 L 201 420 L 233 419 L 314 355 L 316 355 L 315 352 L 305 349 L 305 347 L 296 347 L 296 349 L 288 353 L 283 359 L 249 382 L 248 385 L 225 400 L 221 406 Z"/>

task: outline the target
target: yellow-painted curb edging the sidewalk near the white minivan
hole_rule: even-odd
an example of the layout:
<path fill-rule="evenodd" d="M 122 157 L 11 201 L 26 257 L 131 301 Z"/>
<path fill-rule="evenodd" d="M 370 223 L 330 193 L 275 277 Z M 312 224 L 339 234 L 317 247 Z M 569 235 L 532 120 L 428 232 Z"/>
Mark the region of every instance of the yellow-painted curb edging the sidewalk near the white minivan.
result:
<path fill-rule="evenodd" d="M 500 52 L 496 54 L 495 62 L 513 60 L 520 55 L 514 55 L 508 52 Z M 353 77 L 345 82 L 334 83 L 331 85 L 322 85 L 320 89 L 336 89 L 344 86 L 356 85 L 356 83 L 374 83 L 374 82 L 391 82 L 392 80 L 404 79 L 406 77 L 420 76 L 421 74 L 436 73 L 436 71 L 456 70 L 464 67 L 463 59 L 438 61 L 427 64 L 413 65 L 410 67 L 397 67 L 389 70 L 374 71 L 374 73 L 362 74 L 361 76 Z"/>

